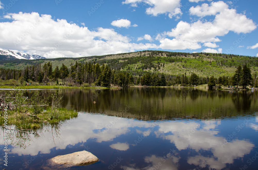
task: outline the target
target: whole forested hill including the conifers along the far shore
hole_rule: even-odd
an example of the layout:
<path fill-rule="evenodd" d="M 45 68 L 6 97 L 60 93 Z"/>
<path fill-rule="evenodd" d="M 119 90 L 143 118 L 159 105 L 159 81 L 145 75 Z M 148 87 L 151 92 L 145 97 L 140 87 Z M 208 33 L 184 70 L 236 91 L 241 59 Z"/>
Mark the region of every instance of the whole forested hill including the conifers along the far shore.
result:
<path fill-rule="evenodd" d="M 0 78 L 68 86 L 224 86 L 258 88 L 258 59 L 215 53 L 140 51 L 82 58 L 1 61 Z M 19 80 L 19 81 L 18 81 Z M 66 83 L 63 83 L 66 82 Z"/>

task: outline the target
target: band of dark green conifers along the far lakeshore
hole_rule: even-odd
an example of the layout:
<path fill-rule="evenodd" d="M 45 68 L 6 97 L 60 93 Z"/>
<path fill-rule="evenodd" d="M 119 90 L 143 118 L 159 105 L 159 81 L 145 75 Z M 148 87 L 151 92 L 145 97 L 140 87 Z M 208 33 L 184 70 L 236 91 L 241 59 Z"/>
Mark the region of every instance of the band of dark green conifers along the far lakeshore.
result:
<path fill-rule="evenodd" d="M 147 57 L 148 58 L 148 57 Z M 174 60 L 180 60 L 174 59 Z M 151 63 L 151 62 L 150 62 Z M 161 63 L 160 64 L 162 67 Z M 160 66 L 159 66 L 160 67 Z M 114 86 L 126 87 L 129 85 L 146 85 L 146 86 L 198 86 L 201 84 L 208 84 L 209 87 L 214 87 L 216 84 L 223 86 L 243 86 L 247 88 L 252 85 L 258 88 L 258 81 L 256 74 L 252 76 L 250 68 L 245 64 L 243 67 L 239 65 L 232 77 L 220 76 L 215 78 L 214 75 L 210 77 L 200 77 L 196 73 L 191 75 L 178 74 L 170 75 L 160 72 L 133 72 L 131 70 L 120 71 L 120 69 L 112 69 L 108 64 L 93 61 L 81 63 L 75 62 L 70 64 L 68 68 L 62 64 L 59 68 L 52 67 L 52 63 L 48 62 L 41 67 L 41 64 L 27 65 L 23 70 L 15 69 L 0 69 L 0 78 L 3 80 L 20 80 L 22 82 L 38 82 L 46 84 L 54 81 L 57 84 L 70 84 L 71 86 L 79 86 L 83 84 L 110 87 Z"/>

